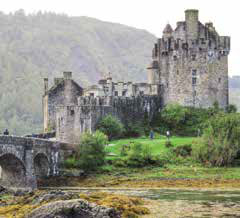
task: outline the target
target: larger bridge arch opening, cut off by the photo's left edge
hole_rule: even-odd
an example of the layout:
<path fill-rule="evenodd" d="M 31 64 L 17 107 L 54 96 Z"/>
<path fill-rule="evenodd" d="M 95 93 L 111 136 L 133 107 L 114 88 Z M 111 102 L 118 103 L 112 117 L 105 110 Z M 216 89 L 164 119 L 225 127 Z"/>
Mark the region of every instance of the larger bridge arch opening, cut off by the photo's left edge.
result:
<path fill-rule="evenodd" d="M 12 153 L 0 155 L 0 184 L 5 187 L 25 187 L 26 168 L 19 157 Z"/>

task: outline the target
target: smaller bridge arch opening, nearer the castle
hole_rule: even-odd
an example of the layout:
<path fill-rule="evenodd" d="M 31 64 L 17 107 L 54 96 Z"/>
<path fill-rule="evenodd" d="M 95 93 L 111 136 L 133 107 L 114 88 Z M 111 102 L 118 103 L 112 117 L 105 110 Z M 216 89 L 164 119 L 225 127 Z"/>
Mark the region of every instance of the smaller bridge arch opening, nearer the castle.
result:
<path fill-rule="evenodd" d="M 37 179 L 49 175 L 50 162 L 45 153 L 37 153 L 33 159 L 34 172 Z"/>

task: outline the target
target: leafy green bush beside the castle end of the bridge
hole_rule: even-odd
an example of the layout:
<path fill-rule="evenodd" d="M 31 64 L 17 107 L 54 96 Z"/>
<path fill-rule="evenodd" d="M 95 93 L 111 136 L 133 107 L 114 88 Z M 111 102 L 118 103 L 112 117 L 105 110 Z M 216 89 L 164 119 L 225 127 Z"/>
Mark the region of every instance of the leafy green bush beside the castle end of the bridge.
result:
<path fill-rule="evenodd" d="M 80 141 L 77 152 L 77 165 L 85 171 L 97 169 L 104 164 L 107 136 L 100 131 L 94 134 L 85 133 Z"/>

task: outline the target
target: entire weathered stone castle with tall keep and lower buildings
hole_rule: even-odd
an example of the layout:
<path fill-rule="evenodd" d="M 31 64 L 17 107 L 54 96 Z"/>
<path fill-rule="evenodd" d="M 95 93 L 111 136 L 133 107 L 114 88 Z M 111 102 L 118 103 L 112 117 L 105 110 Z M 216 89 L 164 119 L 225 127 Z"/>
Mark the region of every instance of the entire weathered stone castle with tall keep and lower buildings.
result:
<path fill-rule="evenodd" d="M 211 107 L 228 105 L 230 37 L 219 36 L 212 23 L 203 25 L 197 10 L 186 10 L 175 30 L 168 24 L 154 45 L 148 82 L 114 82 L 111 75 L 97 85 L 80 87 L 71 72 L 55 78 L 48 89 L 44 79 L 44 131 L 54 129 L 63 142 L 78 141 L 94 131 L 107 114 L 125 125 L 151 119 L 164 105 L 178 103 Z"/>

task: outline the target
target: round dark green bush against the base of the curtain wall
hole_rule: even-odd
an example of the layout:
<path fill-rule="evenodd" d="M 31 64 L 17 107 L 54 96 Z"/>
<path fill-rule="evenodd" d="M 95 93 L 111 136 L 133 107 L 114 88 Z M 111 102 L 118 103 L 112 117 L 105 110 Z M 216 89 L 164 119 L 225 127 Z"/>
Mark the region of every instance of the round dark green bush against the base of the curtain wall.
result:
<path fill-rule="evenodd" d="M 120 138 L 124 132 L 123 124 L 111 115 L 100 120 L 97 129 L 107 135 L 109 140 Z"/>

